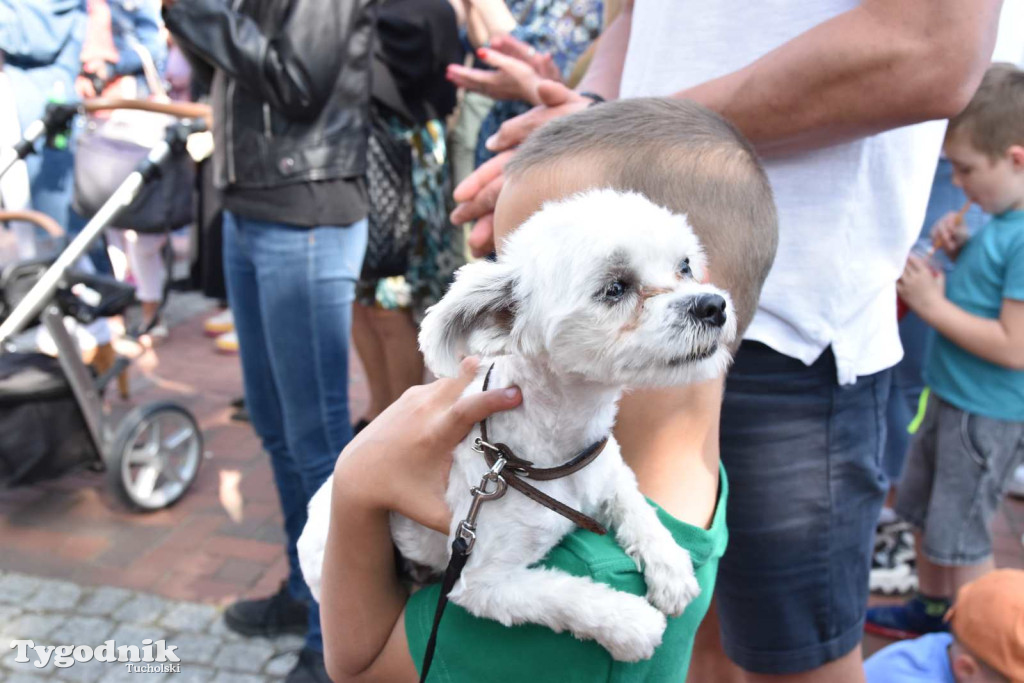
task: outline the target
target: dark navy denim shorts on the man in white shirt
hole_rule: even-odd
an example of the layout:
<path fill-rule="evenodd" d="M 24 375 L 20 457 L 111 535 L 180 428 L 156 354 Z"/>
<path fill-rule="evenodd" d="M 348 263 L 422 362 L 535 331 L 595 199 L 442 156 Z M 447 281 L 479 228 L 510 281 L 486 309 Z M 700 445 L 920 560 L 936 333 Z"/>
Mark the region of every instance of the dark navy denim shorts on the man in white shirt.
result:
<path fill-rule="evenodd" d="M 736 354 L 716 596 L 725 651 L 749 672 L 810 671 L 860 643 L 890 383 L 883 371 L 839 386 L 830 350 L 810 367 L 757 342 Z"/>

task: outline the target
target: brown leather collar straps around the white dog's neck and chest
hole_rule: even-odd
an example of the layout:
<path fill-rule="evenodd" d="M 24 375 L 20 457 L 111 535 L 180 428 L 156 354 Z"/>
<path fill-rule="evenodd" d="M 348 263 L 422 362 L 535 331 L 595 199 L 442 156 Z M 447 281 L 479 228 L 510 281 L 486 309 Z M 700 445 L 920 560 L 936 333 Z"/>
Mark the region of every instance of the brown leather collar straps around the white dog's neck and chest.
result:
<path fill-rule="evenodd" d="M 487 369 L 487 374 L 483 378 L 482 391 L 487 390 L 487 386 L 490 383 L 490 371 L 494 369 L 495 366 L 492 364 L 490 368 Z M 557 467 L 534 467 L 534 463 L 515 455 L 508 444 L 490 443 L 490 440 L 487 438 L 487 421 L 483 419 L 480 421 L 480 438 L 477 439 L 475 450 L 483 454 L 488 467 L 494 467 L 499 458 L 504 458 L 506 464 L 502 470 L 501 477 L 505 479 L 508 485 L 520 494 L 550 510 L 554 510 L 578 526 L 594 533 L 604 535 L 607 533 L 607 529 L 596 519 L 551 498 L 536 486 L 531 486 L 523 481 L 521 477 L 537 479 L 538 481 L 549 481 L 568 476 L 594 462 L 594 459 L 601 455 L 607 443 L 608 437 L 605 436 L 600 441 L 587 446 L 562 465 L 558 465 Z"/>

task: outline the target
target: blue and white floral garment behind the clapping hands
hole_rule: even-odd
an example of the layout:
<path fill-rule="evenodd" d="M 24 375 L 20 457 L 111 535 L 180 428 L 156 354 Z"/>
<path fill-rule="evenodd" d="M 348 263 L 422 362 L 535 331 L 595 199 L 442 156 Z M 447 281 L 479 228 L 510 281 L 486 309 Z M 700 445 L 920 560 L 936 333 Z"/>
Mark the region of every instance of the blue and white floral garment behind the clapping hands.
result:
<path fill-rule="evenodd" d="M 577 60 L 601 33 L 604 0 L 507 0 L 518 26 L 509 35 L 550 54 L 555 66 L 568 78 Z M 483 143 L 503 123 L 529 110 L 528 102 L 501 100 L 480 125 L 476 142 L 476 165 L 494 156 Z"/>

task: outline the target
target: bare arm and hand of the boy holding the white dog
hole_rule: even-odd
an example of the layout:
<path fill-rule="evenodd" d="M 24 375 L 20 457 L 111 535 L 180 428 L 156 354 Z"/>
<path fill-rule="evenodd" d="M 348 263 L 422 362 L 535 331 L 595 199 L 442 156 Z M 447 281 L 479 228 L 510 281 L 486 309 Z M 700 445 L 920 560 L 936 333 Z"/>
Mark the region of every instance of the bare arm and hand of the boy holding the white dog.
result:
<path fill-rule="evenodd" d="M 407 391 L 345 449 L 335 468 L 324 557 L 321 620 L 324 658 L 335 683 L 415 682 L 406 641 L 409 597 L 394 568 L 388 524 L 398 512 L 443 533 L 452 451 L 473 426 L 519 404 L 513 390 L 461 397 L 476 375 L 464 361 L 457 379 Z"/>

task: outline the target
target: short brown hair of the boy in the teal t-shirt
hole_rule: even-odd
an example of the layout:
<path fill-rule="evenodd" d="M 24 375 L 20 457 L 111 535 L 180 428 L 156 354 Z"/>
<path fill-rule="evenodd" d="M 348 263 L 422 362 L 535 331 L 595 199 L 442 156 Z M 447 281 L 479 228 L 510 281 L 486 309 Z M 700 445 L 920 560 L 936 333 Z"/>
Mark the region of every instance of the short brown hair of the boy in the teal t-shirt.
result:
<path fill-rule="evenodd" d="M 957 132 L 991 160 L 1024 144 L 1024 72 L 1005 62 L 989 67 L 967 109 L 949 120 L 946 139 Z"/>

